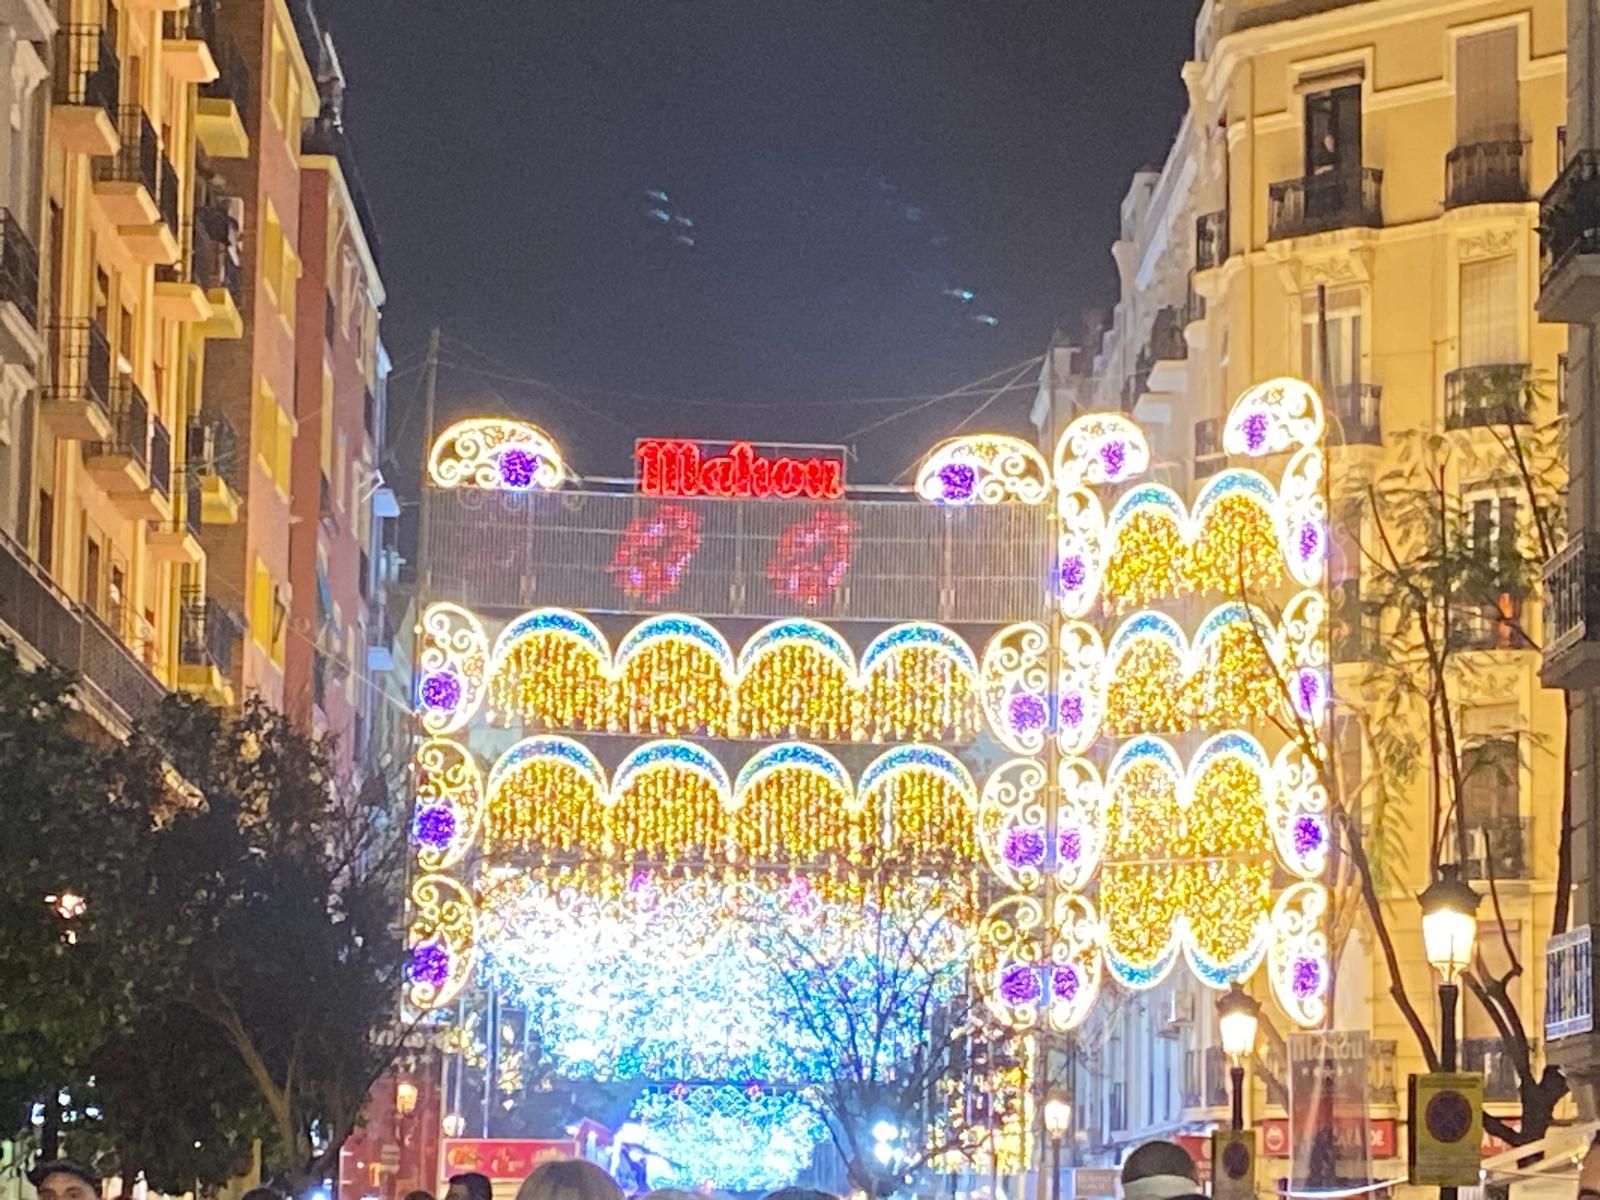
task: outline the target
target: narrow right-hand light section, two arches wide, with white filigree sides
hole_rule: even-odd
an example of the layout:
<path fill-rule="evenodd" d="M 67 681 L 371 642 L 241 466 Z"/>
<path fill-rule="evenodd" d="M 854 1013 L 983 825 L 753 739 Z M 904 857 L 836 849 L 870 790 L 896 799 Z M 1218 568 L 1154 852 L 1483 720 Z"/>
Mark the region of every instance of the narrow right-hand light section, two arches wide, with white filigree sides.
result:
<path fill-rule="evenodd" d="M 1126 418 L 1080 418 L 1062 437 L 1059 618 L 997 635 L 979 686 L 1010 750 L 1040 755 L 1054 736 L 1061 754 L 1054 779 L 1034 757 L 1005 763 L 979 803 L 986 861 L 1010 891 L 978 960 L 1003 1019 L 1070 1029 L 1102 976 L 1152 987 L 1178 960 L 1211 987 L 1266 965 L 1293 1021 L 1323 1018 L 1326 789 L 1298 744 L 1272 755 L 1258 738 L 1328 715 L 1322 430 L 1307 386 L 1253 389 L 1227 450 L 1288 456 L 1280 482 L 1224 470 L 1192 507 L 1139 480 L 1149 446 Z M 1222 602 L 1186 634 L 1184 597 L 1206 592 Z M 1211 736 L 1186 762 L 1155 733 Z M 1104 739 L 1102 776 L 1085 755 Z M 1296 882 L 1274 894 L 1280 874 Z"/>

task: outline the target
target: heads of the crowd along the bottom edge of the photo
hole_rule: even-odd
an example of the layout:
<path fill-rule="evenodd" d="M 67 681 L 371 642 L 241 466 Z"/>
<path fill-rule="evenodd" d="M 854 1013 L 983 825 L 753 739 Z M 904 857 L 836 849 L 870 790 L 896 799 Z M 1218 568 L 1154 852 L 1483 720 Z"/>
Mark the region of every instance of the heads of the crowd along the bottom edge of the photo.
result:
<path fill-rule="evenodd" d="M 29 1174 L 38 1200 L 101 1200 L 101 1179 L 83 1163 L 58 1158 Z M 272 1187 L 253 1187 L 242 1200 L 291 1200 Z M 405 1200 L 435 1200 L 430 1192 L 408 1192 Z M 494 1200 L 486 1174 L 469 1171 L 450 1178 L 443 1200 Z M 517 1200 L 626 1200 L 618 1182 L 582 1158 L 562 1158 L 536 1166 L 522 1181 Z M 640 1200 L 702 1200 L 693 1192 L 662 1187 Z M 838 1200 L 810 1187 L 784 1187 L 763 1200 Z M 1122 1165 L 1122 1200 L 1206 1200 L 1200 1173 L 1189 1150 L 1170 1141 L 1149 1141 Z M 1578 1200 L 1600 1200 L 1600 1134 L 1595 1136 L 1578 1174 Z"/>

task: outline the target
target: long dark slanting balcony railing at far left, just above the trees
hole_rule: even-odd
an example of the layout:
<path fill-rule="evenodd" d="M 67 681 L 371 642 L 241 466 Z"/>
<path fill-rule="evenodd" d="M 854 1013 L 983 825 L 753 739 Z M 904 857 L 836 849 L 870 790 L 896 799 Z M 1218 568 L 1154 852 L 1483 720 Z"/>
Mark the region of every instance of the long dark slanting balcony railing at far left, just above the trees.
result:
<path fill-rule="evenodd" d="M 133 723 L 166 690 L 122 638 L 56 587 L 27 552 L 0 533 L 0 621 L 34 650 L 83 678 L 90 691 Z"/>

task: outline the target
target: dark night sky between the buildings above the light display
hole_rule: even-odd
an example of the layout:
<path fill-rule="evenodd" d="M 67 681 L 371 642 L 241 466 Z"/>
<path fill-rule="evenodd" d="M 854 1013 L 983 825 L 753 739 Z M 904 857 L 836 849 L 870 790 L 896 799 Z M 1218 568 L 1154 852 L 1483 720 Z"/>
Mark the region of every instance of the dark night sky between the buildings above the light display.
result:
<path fill-rule="evenodd" d="M 893 477 L 1110 302 L 1117 203 L 1176 130 L 1195 6 L 320 0 L 398 453 L 437 322 L 440 416 L 525 414 L 581 470 L 678 434 L 850 440 L 856 478 Z M 970 427 L 1019 427 L 1029 398 Z"/>

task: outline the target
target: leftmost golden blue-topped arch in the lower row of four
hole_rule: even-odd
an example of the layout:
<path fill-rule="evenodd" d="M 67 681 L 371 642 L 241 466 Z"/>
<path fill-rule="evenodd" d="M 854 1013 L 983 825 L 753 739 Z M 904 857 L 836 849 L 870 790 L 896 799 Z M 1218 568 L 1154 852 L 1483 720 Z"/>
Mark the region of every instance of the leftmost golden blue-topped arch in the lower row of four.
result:
<path fill-rule="evenodd" d="M 605 768 L 582 742 L 525 738 L 490 768 L 483 850 L 571 853 L 606 842 Z"/>

